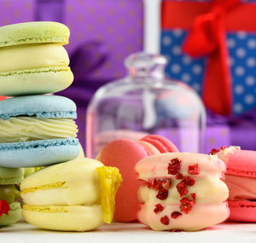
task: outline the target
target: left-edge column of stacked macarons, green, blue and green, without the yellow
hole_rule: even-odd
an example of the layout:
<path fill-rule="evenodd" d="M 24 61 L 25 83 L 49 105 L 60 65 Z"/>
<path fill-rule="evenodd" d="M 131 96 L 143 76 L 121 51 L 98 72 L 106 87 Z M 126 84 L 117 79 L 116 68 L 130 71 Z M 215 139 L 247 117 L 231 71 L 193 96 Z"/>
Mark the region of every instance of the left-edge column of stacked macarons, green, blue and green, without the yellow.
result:
<path fill-rule="evenodd" d="M 14 186 L 24 176 L 19 168 L 58 164 L 79 155 L 75 103 L 46 95 L 73 82 L 63 48 L 68 38 L 67 26 L 55 22 L 0 27 L 0 95 L 15 96 L 0 101 L 0 225 L 20 219 Z M 2 183 L 11 175 L 12 182 Z"/>

